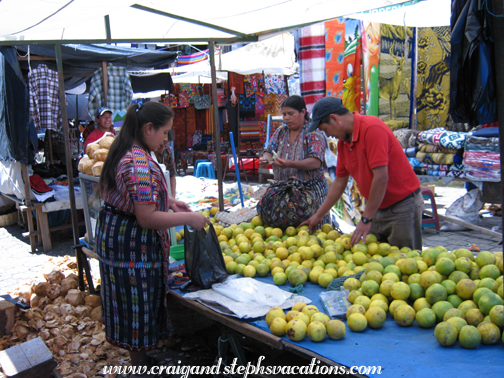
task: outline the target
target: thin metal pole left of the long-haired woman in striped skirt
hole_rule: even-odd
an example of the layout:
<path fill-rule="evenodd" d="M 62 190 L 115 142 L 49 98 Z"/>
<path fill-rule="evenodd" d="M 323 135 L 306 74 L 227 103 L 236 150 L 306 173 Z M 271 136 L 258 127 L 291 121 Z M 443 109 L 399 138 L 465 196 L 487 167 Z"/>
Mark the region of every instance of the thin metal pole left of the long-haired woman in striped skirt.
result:
<path fill-rule="evenodd" d="M 72 156 L 70 154 L 70 131 L 68 128 L 67 107 L 65 103 L 65 81 L 63 79 L 63 61 L 61 59 L 61 45 L 55 45 L 56 65 L 58 67 L 59 98 L 61 106 L 61 118 L 63 120 L 63 135 L 65 138 L 65 164 L 68 176 L 68 194 L 70 199 L 70 211 L 72 214 L 72 230 L 74 244 L 79 244 L 79 225 L 77 222 L 77 209 L 75 206 L 75 192 L 73 186 Z"/>

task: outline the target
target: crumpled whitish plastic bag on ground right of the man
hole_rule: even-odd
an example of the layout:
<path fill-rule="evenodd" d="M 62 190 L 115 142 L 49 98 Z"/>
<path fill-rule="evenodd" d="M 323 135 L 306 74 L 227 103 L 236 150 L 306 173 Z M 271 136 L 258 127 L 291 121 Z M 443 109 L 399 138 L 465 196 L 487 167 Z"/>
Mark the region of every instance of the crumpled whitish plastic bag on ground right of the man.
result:
<path fill-rule="evenodd" d="M 480 199 L 481 192 L 479 189 L 473 189 L 462 197 L 456 199 L 448 209 L 445 215 L 447 217 L 458 218 L 464 222 L 477 224 L 479 222 L 479 211 L 484 203 Z M 441 231 L 463 231 L 468 230 L 467 227 L 457 223 L 446 222 Z"/>

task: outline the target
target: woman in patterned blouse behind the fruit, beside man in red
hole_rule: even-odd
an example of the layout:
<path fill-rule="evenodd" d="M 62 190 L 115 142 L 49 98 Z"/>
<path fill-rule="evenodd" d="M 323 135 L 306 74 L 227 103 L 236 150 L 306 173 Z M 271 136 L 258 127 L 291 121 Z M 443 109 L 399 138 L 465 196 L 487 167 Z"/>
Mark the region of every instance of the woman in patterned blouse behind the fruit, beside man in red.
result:
<path fill-rule="evenodd" d="M 276 181 L 296 178 L 305 188 L 312 191 L 318 209 L 329 191 L 329 184 L 324 177 L 327 171 L 325 134 L 316 130 L 308 132 L 309 116 L 306 104 L 301 96 L 290 96 L 282 104 L 282 117 L 285 125 L 278 128 L 270 139 L 268 148 L 259 159 L 259 165 L 265 167 L 273 159 L 273 174 Z M 293 204 L 294 207 L 302 204 Z M 329 214 L 323 223 L 330 223 Z M 293 225 L 298 226 L 298 224 Z"/>

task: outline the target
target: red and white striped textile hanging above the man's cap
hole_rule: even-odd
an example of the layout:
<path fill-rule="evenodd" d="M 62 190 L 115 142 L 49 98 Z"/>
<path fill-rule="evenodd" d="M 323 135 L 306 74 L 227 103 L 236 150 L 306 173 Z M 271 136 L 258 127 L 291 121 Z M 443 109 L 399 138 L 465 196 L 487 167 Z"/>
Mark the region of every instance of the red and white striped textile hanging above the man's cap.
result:
<path fill-rule="evenodd" d="M 301 96 L 309 113 L 325 96 L 325 33 L 324 23 L 305 26 L 299 39 Z"/>

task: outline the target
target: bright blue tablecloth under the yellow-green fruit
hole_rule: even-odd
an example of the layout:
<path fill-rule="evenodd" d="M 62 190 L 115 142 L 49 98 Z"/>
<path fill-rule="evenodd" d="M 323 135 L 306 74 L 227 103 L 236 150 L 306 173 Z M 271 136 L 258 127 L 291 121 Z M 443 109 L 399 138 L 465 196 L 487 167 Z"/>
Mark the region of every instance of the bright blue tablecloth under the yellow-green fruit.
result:
<path fill-rule="evenodd" d="M 271 276 L 257 279 L 273 284 Z M 289 286 L 280 288 L 288 290 Z M 322 290 L 318 285 L 307 283 L 301 295 L 310 298 L 311 304 L 323 311 L 319 298 Z M 248 323 L 270 332 L 264 320 Z M 347 327 L 346 337 L 338 341 L 326 338 L 314 343 L 308 336 L 302 342 L 293 342 L 287 336 L 282 340 L 347 367 L 381 366 L 381 374 L 365 374 L 370 377 L 500 377 L 504 372 L 502 341 L 473 350 L 463 349 L 458 341 L 452 347 L 442 347 L 434 337 L 434 327 L 423 329 L 416 322 L 411 327 L 400 327 L 390 314 L 382 328 L 354 333 Z"/>

